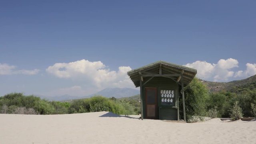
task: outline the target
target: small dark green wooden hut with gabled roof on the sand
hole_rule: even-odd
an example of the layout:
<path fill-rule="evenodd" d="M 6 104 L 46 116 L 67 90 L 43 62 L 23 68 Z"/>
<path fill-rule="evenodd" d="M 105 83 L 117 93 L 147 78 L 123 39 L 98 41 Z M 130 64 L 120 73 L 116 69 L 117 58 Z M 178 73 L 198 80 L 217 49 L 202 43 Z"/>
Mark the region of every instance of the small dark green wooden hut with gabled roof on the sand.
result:
<path fill-rule="evenodd" d="M 164 61 L 157 61 L 127 72 L 136 87 L 140 86 L 141 118 L 180 120 L 180 94 L 186 121 L 184 87 L 196 70 Z"/>

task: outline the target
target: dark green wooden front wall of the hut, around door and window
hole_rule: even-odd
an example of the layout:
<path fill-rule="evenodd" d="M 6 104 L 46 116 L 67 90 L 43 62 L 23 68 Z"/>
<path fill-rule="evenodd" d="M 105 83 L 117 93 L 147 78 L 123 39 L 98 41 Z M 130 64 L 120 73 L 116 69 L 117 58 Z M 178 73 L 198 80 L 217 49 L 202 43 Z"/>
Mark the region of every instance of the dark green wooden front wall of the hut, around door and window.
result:
<path fill-rule="evenodd" d="M 146 81 L 146 80 L 144 80 Z M 179 85 L 170 78 L 154 77 L 142 86 L 143 117 L 146 118 L 145 88 L 157 88 L 158 118 L 160 120 L 178 120 Z M 161 105 L 160 90 L 174 90 L 174 106 Z"/>

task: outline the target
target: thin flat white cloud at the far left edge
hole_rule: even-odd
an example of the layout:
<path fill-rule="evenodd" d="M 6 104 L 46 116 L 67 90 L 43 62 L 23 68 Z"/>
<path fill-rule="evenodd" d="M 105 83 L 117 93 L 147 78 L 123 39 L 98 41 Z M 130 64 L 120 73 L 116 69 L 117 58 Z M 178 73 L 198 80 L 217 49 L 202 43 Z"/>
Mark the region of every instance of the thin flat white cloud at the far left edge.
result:
<path fill-rule="evenodd" d="M 10 66 L 9 64 L 0 63 L 0 75 L 11 75 L 11 74 L 26 74 L 34 75 L 38 74 L 39 70 L 16 70 L 16 66 Z"/>

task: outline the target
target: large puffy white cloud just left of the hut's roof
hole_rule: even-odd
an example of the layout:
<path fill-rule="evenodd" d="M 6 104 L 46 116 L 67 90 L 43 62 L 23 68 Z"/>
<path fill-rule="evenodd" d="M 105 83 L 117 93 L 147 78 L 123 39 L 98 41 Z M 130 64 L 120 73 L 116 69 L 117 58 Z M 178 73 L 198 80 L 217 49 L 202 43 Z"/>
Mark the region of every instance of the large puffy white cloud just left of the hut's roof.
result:
<path fill-rule="evenodd" d="M 89 80 L 98 88 L 103 87 L 132 87 L 132 81 L 127 72 L 129 66 L 120 66 L 118 71 L 109 70 L 102 62 L 78 60 L 69 63 L 56 63 L 49 66 L 46 72 L 58 78 L 72 78 Z"/>

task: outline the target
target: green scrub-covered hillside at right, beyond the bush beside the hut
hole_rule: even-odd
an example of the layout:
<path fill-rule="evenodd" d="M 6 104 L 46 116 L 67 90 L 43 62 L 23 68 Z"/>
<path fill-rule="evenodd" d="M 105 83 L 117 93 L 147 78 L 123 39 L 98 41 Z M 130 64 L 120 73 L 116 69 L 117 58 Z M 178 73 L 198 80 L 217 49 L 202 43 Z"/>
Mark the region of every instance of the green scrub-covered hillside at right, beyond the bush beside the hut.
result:
<path fill-rule="evenodd" d="M 237 102 L 244 117 L 254 116 L 256 104 L 256 75 L 232 82 L 208 82 L 200 80 L 209 89 L 208 110 L 217 110 L 218 117 L 229 117 Z"/>

